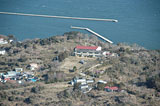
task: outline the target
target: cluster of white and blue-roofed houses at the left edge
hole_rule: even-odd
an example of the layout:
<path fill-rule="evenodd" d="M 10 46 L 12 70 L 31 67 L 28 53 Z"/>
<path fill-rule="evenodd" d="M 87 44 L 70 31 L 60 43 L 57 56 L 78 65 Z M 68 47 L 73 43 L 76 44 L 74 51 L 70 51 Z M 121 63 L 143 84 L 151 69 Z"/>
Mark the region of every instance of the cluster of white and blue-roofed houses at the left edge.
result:
<path fill-rule="evenodd" d="M 38 80 L 34 75 L 34 70 L 38 68 L 36 63 L 31 63 L 29 66 L 30 71 L 24 71 L 23 68 L 15 68 L 13 71 L 8 71 L 7 73 L 0 73 L 0 82 L 36 82 Z"/>

